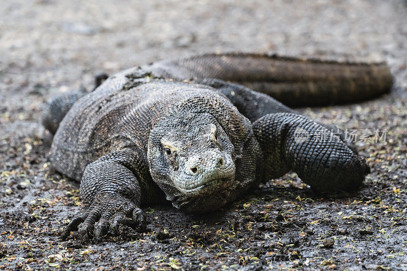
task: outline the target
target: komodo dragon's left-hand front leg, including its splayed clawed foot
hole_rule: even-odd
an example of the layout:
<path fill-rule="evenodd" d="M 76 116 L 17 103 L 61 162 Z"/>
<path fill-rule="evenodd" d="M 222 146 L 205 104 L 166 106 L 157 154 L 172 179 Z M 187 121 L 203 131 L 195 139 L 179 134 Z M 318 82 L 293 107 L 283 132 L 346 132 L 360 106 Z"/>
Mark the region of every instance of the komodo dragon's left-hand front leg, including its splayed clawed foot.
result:
<path fill-rule="evenodd" d="M 69 223 L 62 238 L 78 230 L 82 242 L 92 235 L 98 239 L 110 227 L 118 230 L 121 224 L 145 228 L 146 219 L 139 208 L 140 186 L 134 174 L 139 163 L 133 152 L 121 150 L 89 164 L 80 183 L 80 197 L 90 206 Z"/>

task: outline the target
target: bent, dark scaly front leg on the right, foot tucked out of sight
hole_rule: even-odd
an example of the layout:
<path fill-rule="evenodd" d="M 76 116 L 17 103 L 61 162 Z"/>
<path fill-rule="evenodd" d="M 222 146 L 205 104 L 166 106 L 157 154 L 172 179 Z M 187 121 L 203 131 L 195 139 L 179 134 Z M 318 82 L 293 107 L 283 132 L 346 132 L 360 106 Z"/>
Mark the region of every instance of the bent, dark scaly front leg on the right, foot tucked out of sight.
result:
<path fill-rule="evenodd" d="M 253 132 L 264 153 L 265 180 L 294 170 L 316 191 L 347 191 L 370 172 L 337 135 L 308 117 L 267 114 L 253 123 Z"/>

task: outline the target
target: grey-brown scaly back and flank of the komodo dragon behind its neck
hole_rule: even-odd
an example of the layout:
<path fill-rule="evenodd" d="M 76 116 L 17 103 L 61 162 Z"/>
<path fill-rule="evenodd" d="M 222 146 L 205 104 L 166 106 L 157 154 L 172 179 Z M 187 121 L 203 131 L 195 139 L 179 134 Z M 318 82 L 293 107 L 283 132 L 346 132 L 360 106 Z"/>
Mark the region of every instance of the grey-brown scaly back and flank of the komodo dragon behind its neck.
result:
<path fill-rule="evenodd" d="M 80 180 L 86 165 L 109 152 L 137 147 L 147 153 L 154 125 L 170 107 L 191 97 L 221 99 L 216 109 L 220 115 L 230 110 L 240 115 L 209 86 L 150 78 L 132 81 L 125 74 L 113 76 L 67 113 L 51 146 L 50 161 L 56 170 Z"/>

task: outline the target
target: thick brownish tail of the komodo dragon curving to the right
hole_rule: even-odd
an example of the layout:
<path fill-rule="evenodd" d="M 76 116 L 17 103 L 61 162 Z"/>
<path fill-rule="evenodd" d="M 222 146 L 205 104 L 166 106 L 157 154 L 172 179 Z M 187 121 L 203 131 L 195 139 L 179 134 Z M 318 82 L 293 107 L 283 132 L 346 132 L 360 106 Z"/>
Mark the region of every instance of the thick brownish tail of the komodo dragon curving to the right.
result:
<path fill-rule="evenodd" d="M 358 102 L 389 92 L 393 83 L 385 62 L 335 62 L 274 54 L 204 54 L 151 67 L 160 77 L 240 83 L 291 107 Z"/>

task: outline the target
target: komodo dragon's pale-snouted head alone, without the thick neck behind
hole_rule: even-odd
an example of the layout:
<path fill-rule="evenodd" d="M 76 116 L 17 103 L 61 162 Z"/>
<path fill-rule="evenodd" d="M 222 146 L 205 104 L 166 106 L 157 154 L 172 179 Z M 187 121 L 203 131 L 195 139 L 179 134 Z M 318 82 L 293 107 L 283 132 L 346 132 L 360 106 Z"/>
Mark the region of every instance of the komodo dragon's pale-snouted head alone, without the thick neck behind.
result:
<path fill-rule="evenodd" d="M 234 145 L 209 113 L 161 119 L 150 135 L 148 159 L 161 189 L 176 189 L 184 198 L 221 192 L 235 180 Z"/>

